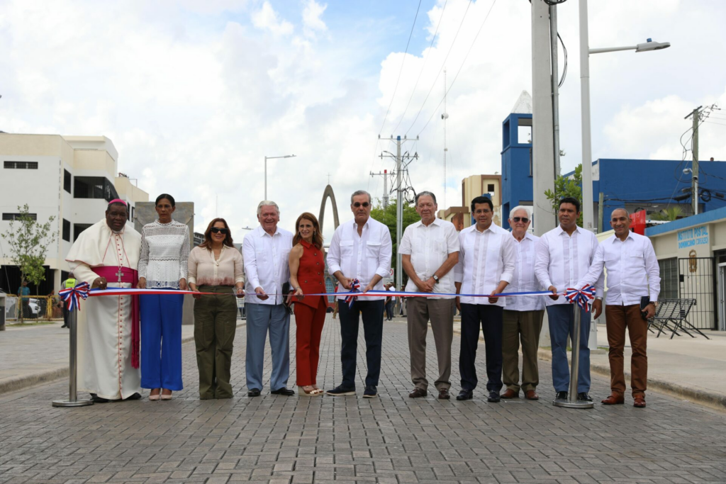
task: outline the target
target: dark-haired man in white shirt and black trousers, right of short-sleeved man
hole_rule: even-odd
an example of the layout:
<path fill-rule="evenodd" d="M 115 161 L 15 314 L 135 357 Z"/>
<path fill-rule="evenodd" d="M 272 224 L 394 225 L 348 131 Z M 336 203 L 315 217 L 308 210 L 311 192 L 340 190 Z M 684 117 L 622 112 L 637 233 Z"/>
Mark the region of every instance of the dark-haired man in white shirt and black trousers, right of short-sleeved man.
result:
<path fill-rule="evenodd" d="M 461 353 L 459 372 L 461 391 L 457 400 L 473 398 L 476 377 L 476 347 L 479 327 L 484 333 L 486 350 L 486 390 L 489 402 L 499 401 L 502 390 L 502 311 L 504 298 L 482 298 L 467 294 L 498 294 L 512 280 L 515 240 L 492 223 L 494 205 L 488 197 L 475 197 L 471 213 L 476 224 L 459 233 L 459 262 L 454 268 L 457 306 L 461 311 Z"/>

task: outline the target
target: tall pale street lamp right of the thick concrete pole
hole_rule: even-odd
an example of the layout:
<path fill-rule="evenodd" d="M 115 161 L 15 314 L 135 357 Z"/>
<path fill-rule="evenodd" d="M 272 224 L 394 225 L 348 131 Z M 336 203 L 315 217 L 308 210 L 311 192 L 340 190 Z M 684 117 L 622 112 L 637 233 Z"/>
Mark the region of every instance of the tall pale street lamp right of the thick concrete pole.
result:
<path fill-rule="evenodd" d="M 582 109 L 582 226 L 593 230 L 592 213 L 592 135 L 590 131 L 590 54 L 635 50 L 650 52 L 667 49 L 670 42 L 653 42 L 650 38 L 643 44 L 625 47 L 590 49 L 587 33 L 587 0 L 580 0 L 580 103 Z M 600 208 L 602 210 L 602 208 Z M 603 227 L 598 227 L 602 231 Z"/>

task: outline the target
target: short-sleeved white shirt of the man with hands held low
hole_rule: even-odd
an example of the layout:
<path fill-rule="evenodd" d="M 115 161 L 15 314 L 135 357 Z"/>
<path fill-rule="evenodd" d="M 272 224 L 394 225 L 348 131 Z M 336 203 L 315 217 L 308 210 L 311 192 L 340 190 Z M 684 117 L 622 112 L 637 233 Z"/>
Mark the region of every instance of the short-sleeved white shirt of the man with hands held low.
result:
<path fill-rule="evenodd" d="M 441 267 L 449 254 L 459 252 L 459 235 L 454 224 L 434 218 L 428 227 L 422 221 L 417 221 L 406 227 L 401 237 L 399 254 L 410 255 L 411 264 L 416 275 L 422 281 L 428 281 L 433 273 Z M 417 292 L 418 287 L 409 279 L 406 292 Z M 454 271 L 449 271 L 439 279 L 433 287 L 433 292 L 455 292 Z M 431 296 L 427 299 L 453 299 L 456 296 Z"/>

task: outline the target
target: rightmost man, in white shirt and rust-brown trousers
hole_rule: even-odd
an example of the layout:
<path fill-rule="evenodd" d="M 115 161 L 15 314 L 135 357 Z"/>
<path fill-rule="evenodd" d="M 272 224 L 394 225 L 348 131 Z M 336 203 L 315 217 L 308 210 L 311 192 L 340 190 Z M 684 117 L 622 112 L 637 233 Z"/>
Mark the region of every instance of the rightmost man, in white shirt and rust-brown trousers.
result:
<path fill-rule="evenodd" d="M 615 234 L 597 247 L 590 271 L 578 284 L 580 287 L 592 284 L 603 274 L 603 268 L 608 270 L 605 319 L 610 345 L 611 395 L 603 403 L 616 405 L 625 402 L 623 348 L 627 328 L 633 351 L 630 359 L 633 406 L 643 408 L 648 382 L 648 356 L 645 352 L 648 319 L 656 314 L 658 294 L 661 292 L 661 271 L 650 239 L 630 231 L 630 214 L 627 210 L 613 210 L 610 226 Z"/>

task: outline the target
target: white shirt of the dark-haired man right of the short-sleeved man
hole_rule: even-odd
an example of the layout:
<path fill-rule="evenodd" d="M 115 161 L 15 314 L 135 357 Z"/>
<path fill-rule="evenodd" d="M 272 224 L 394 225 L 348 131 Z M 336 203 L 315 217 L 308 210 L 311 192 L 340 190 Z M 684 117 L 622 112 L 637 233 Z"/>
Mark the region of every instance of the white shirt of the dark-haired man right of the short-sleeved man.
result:
<path fill-rule="evenodd" d="M 494 225 L 478 231 L 476 224 L 459 233 L 459 262 L 454 267 L 454 281 L 461 282 L 462 294 L 489 295 L 499 282 L 512 282 L 515 239 L 502 227 Z M 461 296 L 462 304 L 486 304 L 504 307 L 505 298 L 489 303 L 489 298 Z"/>

